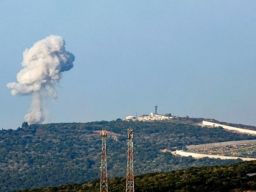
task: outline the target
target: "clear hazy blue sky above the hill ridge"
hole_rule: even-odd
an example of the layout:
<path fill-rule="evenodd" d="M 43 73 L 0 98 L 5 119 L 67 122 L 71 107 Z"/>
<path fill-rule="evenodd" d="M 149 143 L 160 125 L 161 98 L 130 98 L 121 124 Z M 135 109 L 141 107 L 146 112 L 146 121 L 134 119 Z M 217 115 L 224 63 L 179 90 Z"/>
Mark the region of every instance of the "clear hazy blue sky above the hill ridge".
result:
<path fill-rule="evenodd" d="M 0 127 L 30 96 L 11 95 L 23 52 L 65 39 L 74 67 L 49 99 L 49 123 L 154 112 L 256 126 L 256 1 L 1 1 Z"/>

